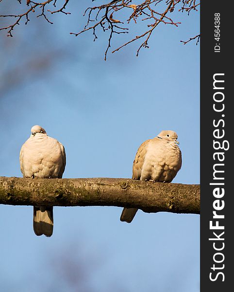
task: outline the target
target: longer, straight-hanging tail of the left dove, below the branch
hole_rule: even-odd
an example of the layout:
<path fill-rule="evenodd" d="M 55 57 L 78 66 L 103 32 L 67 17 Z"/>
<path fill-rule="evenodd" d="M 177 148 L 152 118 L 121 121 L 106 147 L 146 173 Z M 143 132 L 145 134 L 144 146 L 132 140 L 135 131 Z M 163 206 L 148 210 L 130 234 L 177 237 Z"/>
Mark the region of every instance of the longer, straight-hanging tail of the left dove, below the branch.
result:
<path fill-rule="evenodd" d="M 33 230 L 35 235 L 50 237 L 53 233 L 53 207 L 33 206 Z"/>

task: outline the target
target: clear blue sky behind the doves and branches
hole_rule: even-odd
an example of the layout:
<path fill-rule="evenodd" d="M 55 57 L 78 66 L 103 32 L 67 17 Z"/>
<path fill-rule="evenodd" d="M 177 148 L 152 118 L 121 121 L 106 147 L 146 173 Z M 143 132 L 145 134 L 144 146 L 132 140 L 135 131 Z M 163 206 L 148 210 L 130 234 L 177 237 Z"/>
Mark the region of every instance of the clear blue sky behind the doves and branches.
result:
<path fill-rule="evenodd" d="M 200 183 L 200 47 L 180 43 L 198 34 L 199 15 L 176 13 L 183 23 L 159 26 L 150 49 L 136 57 L 135 43 L 104 61 L 105 34 L 69 35 L 85 24 L 84 7 L 73 3 L 52 26 L 31 19 L 14 38 L 1 32 L 0 176 L 22 177 L 33 125 L 65 146 L 64 178 L 130 178 L 138 146 L 171 129 L 183 158 L 173 182 Z M 199 215 L 139 211 L 127 224 L 120 214 L 55 207 L 47 238 L 33 233 L 32 206 L 0 205 L 0 290 L 199 291 Z"/>

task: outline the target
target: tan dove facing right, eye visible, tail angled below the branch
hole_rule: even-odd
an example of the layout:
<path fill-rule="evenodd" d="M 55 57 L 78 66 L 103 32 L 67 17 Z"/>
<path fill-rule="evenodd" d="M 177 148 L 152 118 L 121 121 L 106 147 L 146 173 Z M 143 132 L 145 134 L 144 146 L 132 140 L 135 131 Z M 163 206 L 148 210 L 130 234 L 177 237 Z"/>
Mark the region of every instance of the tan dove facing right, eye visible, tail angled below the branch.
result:
<path fill-rule="evenodd" d="M 182 156 L 173 131 L 162 131 L 141 144 L 133 163 L 134 180 L 170 183 L 181 168 Z M 124 208 L 121 221 L 132 222 L 138 209 Z"/>

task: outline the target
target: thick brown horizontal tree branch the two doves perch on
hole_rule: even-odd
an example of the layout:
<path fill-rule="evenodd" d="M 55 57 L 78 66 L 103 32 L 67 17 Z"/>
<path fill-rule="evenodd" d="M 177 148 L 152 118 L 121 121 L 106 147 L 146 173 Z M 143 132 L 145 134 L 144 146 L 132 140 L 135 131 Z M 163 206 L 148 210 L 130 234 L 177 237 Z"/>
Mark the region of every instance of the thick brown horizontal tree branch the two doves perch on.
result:
<path fill-rule="evenodd" d="M 200 214 L 200 185 L 132 179 L 0 177 L 0 204 L 136 207 L 147 213 Z"/>

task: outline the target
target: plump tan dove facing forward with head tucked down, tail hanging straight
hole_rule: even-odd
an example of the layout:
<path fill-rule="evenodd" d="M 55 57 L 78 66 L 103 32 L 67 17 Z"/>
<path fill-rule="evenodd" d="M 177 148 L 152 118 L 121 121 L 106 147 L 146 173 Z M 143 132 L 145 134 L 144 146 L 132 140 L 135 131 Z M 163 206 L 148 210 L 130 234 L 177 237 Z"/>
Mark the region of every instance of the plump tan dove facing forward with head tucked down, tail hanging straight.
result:
<path fill-rule="evenodd" d="M 47 135 L 40 126 L 31 128 L 30 138 L 19 154 L 20 170 L 24 178 L 61 179 L 66 165 L 64 146 Z M 53 207 L 33 206 L 33 230 L 38 236 L 53 233 Z"/>

